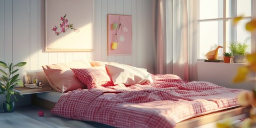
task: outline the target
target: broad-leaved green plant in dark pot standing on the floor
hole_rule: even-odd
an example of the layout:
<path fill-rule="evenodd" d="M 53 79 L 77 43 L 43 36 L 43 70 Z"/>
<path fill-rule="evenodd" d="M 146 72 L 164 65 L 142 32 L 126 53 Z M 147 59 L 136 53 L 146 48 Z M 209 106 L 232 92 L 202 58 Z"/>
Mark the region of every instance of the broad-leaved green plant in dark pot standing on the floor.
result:
<path fill-rule="evenodd" d="M 19 69 L 13 69 L 14 67 L 21 67 L 26 65 L 27 62 L 19 62 L 16 65 L 13 65 L 13 63 L 9 63 L 6 65 L 5 62 L 0 61 L 0 67 L 3 67 L 4 69 L 7 68 L 6 72 L 2 69 L 0 69 L 0 72 L 3 74 L 0 81 L 0 94 L 4 94 L 6 101 L 3 103 L 4 111 L 5 112 L 12 112 L 14 111 L 14 101 L 17 101 L 18 99 L 15 97 L 14 94 L 19 94 L 17 92 L 13 91 L 13 88 L 16 85 L 23 86 L 23 81 L 21 79 L 18 79 L 19 74 L 17 71 Z"/>

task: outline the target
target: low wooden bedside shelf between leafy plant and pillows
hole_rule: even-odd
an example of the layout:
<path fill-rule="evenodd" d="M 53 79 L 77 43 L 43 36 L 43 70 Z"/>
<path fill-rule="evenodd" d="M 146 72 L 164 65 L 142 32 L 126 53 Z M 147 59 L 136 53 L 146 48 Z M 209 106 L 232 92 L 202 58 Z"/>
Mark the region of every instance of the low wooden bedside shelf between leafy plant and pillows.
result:
<path fill-rule="evenodd" d="M 28 87 L 14 87 L 13 91 L 18 92 L 20 94 L 35 94 L 35 93 L 43 93 L 50 92 L 52 89 L 49 86 L 42 86 L 30 89 Z"/>

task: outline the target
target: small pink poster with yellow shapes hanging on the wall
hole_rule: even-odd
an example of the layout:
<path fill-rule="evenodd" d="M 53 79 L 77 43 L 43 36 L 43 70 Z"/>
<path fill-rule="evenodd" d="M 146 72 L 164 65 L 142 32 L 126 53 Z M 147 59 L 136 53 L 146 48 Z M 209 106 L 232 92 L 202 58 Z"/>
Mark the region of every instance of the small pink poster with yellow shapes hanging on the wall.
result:
<path fill-rule="evenodd" d="M 108 55 L 132 54 L 132 16 L 108 14 Z"/>

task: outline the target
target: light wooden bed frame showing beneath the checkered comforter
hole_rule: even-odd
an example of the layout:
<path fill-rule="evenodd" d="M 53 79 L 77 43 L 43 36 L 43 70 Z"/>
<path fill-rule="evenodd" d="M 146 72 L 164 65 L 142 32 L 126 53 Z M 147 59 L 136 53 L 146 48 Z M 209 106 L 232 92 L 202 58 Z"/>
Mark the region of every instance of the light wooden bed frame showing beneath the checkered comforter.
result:
<path fill-rule="evenodd" d="M 36 94 L 31 95 L 31 103 L 32 105 L 51 110 L 55 106 L 55 102 L 48 101 L 42 98 L 38 98 Z M 235 107 L 229 108 L 221 111 L 217 111 L 215 113 L 210 113 L 190 119 L 186 119 L 180 123 L 177 123 L 175 127 L 198 127 L 202 125 L 206 125 L 209 123 L 214 123 L 220 121 L 225 118 L 231 118 L 238 115 L 243 115 L 243 117 L 249 117 L 250 107 Z"/>

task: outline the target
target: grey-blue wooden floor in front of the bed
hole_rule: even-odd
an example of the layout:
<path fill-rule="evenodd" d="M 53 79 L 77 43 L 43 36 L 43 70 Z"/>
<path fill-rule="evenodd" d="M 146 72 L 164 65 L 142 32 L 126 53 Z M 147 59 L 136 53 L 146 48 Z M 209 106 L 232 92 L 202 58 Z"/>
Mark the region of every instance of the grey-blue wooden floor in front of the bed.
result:
<path fill-rule="evenodd" d="M 44 116 L 39 117 L 38 111 L 43 110 Z M 111 127 L 94 122 L 82 122 L 62 118 L 36 106 L 16 107 L 13 113 L 0 111 L 0 127 Z"/>

